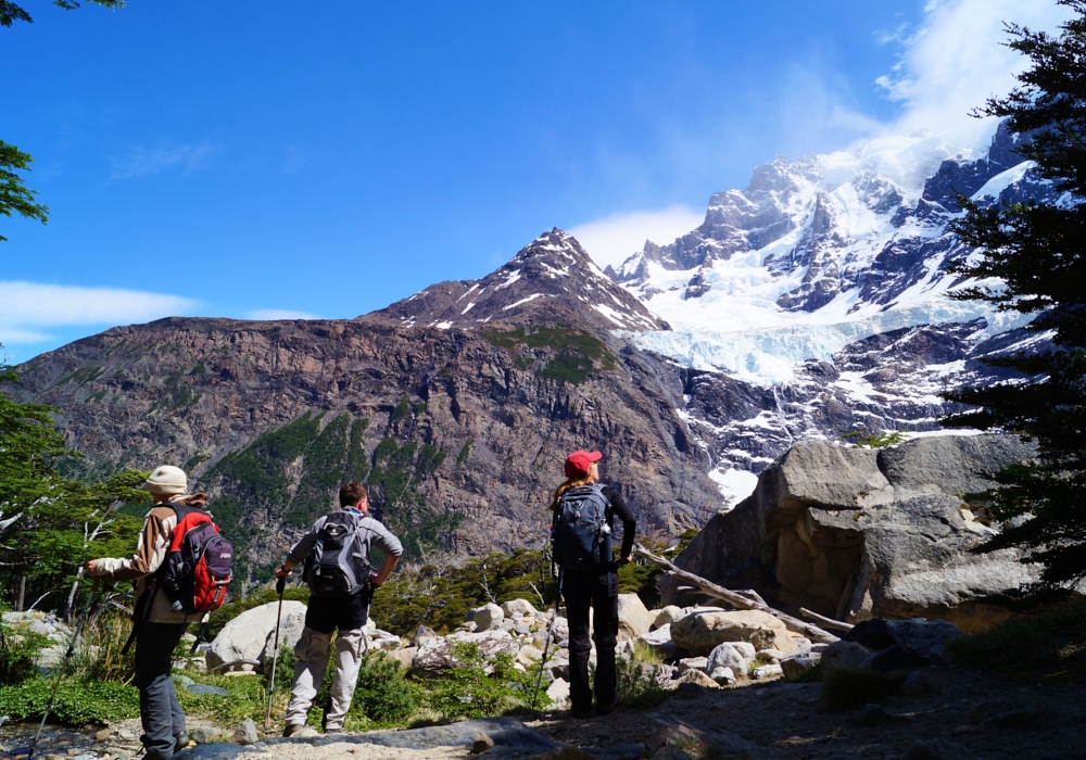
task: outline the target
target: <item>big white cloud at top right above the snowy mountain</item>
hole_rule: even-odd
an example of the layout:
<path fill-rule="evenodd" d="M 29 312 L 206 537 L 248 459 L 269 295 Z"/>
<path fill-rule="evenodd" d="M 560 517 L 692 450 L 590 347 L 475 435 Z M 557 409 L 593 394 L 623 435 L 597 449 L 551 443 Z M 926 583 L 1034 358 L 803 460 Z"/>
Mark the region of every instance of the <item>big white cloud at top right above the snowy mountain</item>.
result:
<path fill-rule="evenodd" d="M 897 66 L 877 80 L 904 106 L 888 131 L 929 129 L 950 144 L 980 147 L 993 123 L 969 112 L 1009 92 L 1018 84 L 1014 75 L 1028 65 L 1002 45 L 1003 23 L 1055 31 L 1070 15 L 1052 0 L 931 0 L 920 27 L 905 39 Z"/>

